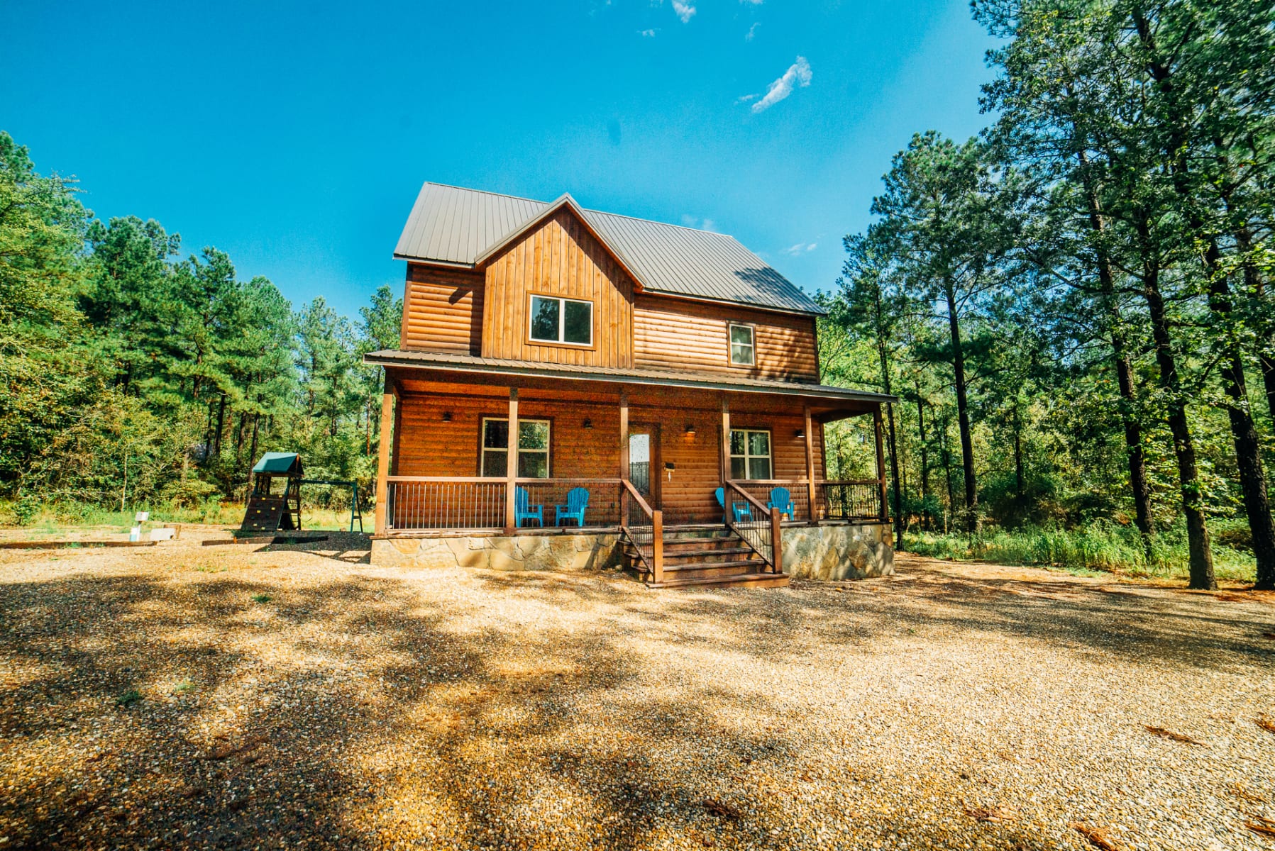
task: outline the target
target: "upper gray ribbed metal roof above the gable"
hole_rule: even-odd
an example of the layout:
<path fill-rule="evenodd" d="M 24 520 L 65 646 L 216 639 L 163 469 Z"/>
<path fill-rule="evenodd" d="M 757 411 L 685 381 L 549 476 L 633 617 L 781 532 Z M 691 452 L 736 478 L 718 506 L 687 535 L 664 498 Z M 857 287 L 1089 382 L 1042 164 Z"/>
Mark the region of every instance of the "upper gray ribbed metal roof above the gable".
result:
<path fill-rule="evenodd" d="M 403 227 L 400 260 L 473 266 L 484 254 L 556 203 L 426 182 Z M 676 224 L 579 209 L 607 248 L 652 293 L 793 313 L 822 313 L 810 296 L 734 237 Z"/>

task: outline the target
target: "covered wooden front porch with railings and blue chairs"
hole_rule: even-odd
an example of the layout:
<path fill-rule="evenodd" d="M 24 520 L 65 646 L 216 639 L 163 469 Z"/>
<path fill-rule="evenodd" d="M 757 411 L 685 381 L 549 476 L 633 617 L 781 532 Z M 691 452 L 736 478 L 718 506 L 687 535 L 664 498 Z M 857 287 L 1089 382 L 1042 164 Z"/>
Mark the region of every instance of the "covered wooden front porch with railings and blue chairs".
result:
<path fill-rule="evenodd" d="M 409 358 L 385 364 L 377 539 L 613 538 L 662 583 L 687 530 L 729 530 L 741 564 L 783 575 L 785 529 L 889 524 L 872 394 Z M 850 417 L 876 476 L 829 479 L 824 426 Z"/>

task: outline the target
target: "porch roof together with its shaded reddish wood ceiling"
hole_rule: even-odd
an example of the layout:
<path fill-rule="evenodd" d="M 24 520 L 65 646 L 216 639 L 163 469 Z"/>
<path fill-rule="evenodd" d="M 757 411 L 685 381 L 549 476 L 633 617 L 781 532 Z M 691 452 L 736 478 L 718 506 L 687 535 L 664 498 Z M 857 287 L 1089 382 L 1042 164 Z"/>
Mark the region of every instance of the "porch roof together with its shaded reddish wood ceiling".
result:
<path fill-rule="evenodd" d="M 601 403 L 615 400 L 623 390 L 634 403 L 650 395 L 663 404 L 676 399 L 680 404 L 695 408 L 714 408 L 717 400 L 725 394 L 732 409 L 736 408 L 736 401 L 743 403 L 741 406 L 752 406 L 750 401 L 759 406 L 770 406 L 780 400 L 788 404 L 801 401 L 833 418 L 838 413 L 867 413 L 882 403 L 898 400 L 884 394 L 794 381 L 743 377 L 717 380 L 659 369 L 581 367 L 432 352 L 372 352 L 363 355 L 363 362 L 385 367 L 407 390 L 417 392 L 472 394 L 476 385 L 493 389 L 518 386 L 551 390 L 564 399 Z M 496 395 L 501 391 L 491 392 Z"/>

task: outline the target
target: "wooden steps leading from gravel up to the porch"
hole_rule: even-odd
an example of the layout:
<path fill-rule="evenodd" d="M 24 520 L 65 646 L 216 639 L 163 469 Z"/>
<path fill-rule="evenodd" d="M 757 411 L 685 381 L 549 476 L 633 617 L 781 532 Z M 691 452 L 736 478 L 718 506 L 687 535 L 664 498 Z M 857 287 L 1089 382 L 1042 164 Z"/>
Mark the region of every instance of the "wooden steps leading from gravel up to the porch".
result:
<path fill-rule="evenodd" d="M 784 587 L 787 573 L 770 573 L 734 531 L 723 526 L 666 526 L 663 580 L 654 582 L 638 549 L 625 540 L 625 561 L 643 582 L 657 589 Z"/>

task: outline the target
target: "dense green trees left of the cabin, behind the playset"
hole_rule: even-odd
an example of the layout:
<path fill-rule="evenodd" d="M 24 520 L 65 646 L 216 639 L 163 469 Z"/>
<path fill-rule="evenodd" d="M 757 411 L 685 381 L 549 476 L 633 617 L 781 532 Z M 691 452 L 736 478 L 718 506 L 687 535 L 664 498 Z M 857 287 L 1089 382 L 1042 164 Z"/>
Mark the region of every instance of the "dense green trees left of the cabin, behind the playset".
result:
<path fill-rule="evenodd" d="M 353 322 L 321 297 L 293 310 L 223 251 L 94 218 L 0 132 L 0 497 L 19 521 L 241 501 L 269 450 L 366 496 L 381 372 L 361 355 L 397 348 L 400 316 L 389 287 Z"/>

